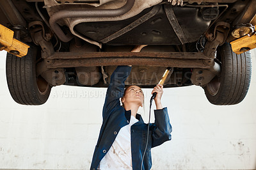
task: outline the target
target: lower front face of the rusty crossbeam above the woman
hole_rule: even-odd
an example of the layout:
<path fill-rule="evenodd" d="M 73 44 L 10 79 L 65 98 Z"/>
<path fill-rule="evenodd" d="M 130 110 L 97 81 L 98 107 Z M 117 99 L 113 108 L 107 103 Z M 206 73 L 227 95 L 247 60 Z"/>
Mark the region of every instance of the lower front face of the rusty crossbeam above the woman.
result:
<path fill-rule="evenodd" d="M 114 66 L 114 65 L 145 65 L 172 66 L 180 68 L 211 68 L 204 59 L 173 59 L 173 58 L 81 58 L 81 59 L 48 59 L 47 68 L 68 68 L 77 66 Z"/>

